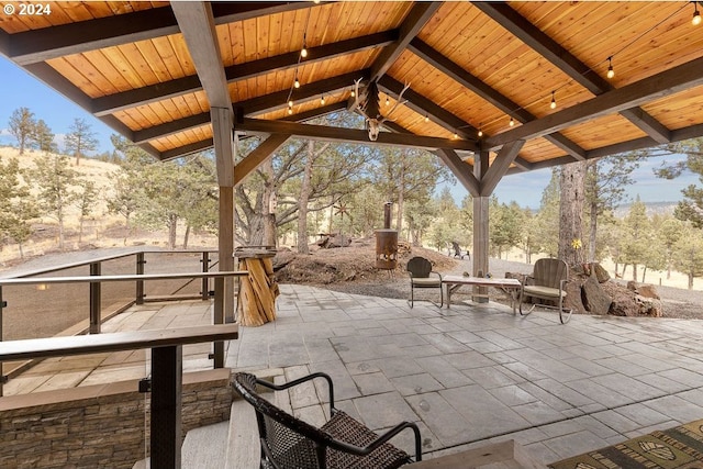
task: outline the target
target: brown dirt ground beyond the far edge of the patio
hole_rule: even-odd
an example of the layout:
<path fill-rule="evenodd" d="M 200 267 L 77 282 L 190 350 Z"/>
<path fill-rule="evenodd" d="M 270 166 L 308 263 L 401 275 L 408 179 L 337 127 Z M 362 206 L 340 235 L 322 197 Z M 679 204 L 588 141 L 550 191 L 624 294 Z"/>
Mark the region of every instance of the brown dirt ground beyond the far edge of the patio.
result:
<path fill-rule="evenodd" d="M 428 258 L 435 270 L 442 273 L 461 275 L 471 271 L 471 261 L 455 259 L 447 254 L 412 247 L 399 255 L 399 265 L 393 271 L 376 268 L 375 239 L 354 241 L 348 247 L 323 249 L 314 246 L 310 255 L 299 255 L 282 249 L 275 258 L 275 269 L 281 283 L 308 283 L 330 290 L 367 294 L 372 297 L 408 299 L 410 282 L 405 265 L 413 256 Z M 532 265 L 491 258 L 490 271 L 495 277 L 505 272 L 532 272 Z M 620 281 L 620 280 L 618 280 Z M 626 282 L 624 282 L 626 283 Z M 466 290 L 466 293 L 461 293 Z M 468 289 L 459 290 L 453 299 L 468 300 Z M 661 297 L 663 317 L 703 319 L 703 292 L 672 287 L 657 287 Z M 433 298 L 436 292 L 423 290 L 421 298 Z M 491 300 L 509 304 L 500 290 L 489 289 Z M 656 320 L 652 320 L 656 321 Z"/>

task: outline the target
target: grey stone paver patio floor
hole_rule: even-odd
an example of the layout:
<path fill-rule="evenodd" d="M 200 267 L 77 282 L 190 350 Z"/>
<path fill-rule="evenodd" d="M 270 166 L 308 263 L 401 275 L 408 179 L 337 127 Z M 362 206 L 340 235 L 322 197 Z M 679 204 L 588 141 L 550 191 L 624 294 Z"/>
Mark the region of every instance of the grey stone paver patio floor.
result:
<path fill-rule="evenodd" d="M 327 372 L 337 407 L 377 431 L 416 422 L 427 457 L 515 439 L 548 464 L 703 418 L 701 321 L 573 315 L 561 325 L 557 313 L 522 317 L 495 302 L 411 309 L 291 284 L 277 310 L 275 322 L 241 328 L 227 367 L 286 380 Z M 210 303 L 153 303 L 103 331 L 210 321 Z M 210 344 L 185 347 L 185 370 L 210 368 L 209 353 Z M 143 378 L 146 355 L 45 360 L 10 380 L 5 395 Z M 323 420 L 322 388 L 291 393 L 295 413 Z M 399 446 L 411 450 L 410 434 Z"/>

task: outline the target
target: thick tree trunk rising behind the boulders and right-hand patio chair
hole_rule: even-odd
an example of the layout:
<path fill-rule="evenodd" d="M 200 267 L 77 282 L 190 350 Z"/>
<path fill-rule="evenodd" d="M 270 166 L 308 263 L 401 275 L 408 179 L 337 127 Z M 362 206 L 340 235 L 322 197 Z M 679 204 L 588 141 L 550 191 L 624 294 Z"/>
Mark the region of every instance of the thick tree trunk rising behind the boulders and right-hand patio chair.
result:
<path fill-rule="evenodd" d="M 585 201 L 585 161 L 577 161 L 561 167 L 561 202 L 559 204 L 559 248 L 558 257 L 569 265 L 581 264 L 583 203 Z"/>

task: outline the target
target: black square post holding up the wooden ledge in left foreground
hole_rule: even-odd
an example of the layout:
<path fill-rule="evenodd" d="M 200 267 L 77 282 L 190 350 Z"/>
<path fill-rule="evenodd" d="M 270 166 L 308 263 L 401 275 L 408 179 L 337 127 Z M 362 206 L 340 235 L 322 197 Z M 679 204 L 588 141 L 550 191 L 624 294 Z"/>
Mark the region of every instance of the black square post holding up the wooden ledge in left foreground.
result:
<path fill-rule="evenodd" d="M 150 467 L 180 468 L 182 346 L 152 349 Z"/>

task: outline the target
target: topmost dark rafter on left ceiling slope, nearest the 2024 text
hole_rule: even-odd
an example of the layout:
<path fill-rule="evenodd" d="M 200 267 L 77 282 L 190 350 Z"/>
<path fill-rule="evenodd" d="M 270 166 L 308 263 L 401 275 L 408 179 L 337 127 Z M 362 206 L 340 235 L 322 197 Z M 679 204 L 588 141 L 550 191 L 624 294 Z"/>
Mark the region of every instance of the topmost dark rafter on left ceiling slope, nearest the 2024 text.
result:
<path fill-rule="evenodd" d="M 213 5 L 215 24 L 310 8 L 306 2 L 214 2 Z M 159 7 L 15 33 L 10 35 L 5 55 L 16 64 L 29 65 L 178 32 L 171 9 Z"/>

